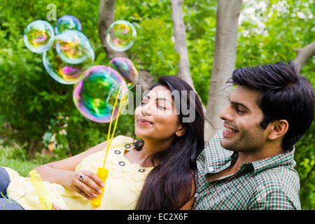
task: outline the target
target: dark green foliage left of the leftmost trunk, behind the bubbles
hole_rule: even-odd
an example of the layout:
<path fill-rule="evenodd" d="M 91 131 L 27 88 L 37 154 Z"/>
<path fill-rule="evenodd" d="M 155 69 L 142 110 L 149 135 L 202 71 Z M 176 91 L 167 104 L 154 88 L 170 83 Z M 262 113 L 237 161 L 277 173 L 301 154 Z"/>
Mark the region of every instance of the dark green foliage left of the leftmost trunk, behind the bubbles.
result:
<path fill-rule="evenodd" d="M 1 121 L 10 128 L 0 130 L 8 141 L 40 148 L 43 137 L 56 134 L 57 155 L 72 155 L 106 139 L 108 124 L 93 123 L 83 117 L 73 104 L 73 85 L 62 85 L 53 80 L 43 68 L 41 54 L 29 51 L 23 42 L 25 27 L 34 20 L 47 20 L 46 9 L 53 3 L 57 18 L 75 15 L 82 23 L 83 32 L 94 49 L 94 64 L 107 64 L 97 31 L 98 1 L 4 1 L 0 5 L 0 107 Z M 55 21 L 48 21 L 55 27 Z M 62 118 L 69 118 L 65 122 Z M 132 134 L 132 118 L 120 117 L 118 132 Z M 126 125 L 127 124 L 127 125 Z M 62 134 L 62 130 L 69 134 Z M 43 141 L 48 147 L 49 141 Z M 27 158 L 29 155 L 27 155 Z"/>

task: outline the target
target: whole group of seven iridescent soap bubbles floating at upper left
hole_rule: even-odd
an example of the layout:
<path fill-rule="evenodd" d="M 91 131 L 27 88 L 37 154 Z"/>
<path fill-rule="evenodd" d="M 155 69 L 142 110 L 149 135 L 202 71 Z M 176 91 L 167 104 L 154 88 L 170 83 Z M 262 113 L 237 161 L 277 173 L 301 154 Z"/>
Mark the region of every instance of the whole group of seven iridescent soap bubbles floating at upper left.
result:
<path fill-rule="evenodd" d="M 29 50 L 43 54 L 45 70 L 54 80 L 74 84 L 73 102 L 83 116 L 97 123 L 109 123 L 112 113 L 113 119 L 118 116 L 116 98 L 126 104 L 127 91 L 139 78 L 130 59 L 116 57 L 109 66 L 93 66 L 94 50 L 73 15 L 59 18 L 55 31 L 43 20 L 31 22 L 23 37 Z M 116 51 L 129 49 L 136 37 L 136 29 L 125 20 L 113 22 L 106 32 L 107 43 Z"/>

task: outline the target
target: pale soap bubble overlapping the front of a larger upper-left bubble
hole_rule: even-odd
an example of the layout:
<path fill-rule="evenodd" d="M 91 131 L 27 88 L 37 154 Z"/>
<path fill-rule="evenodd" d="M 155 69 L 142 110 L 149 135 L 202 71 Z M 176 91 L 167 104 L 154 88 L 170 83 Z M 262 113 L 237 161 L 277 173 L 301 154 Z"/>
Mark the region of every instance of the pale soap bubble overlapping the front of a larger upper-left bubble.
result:
<path fill-rule="evenodd" d="M 94 60 L 94 51 L 89 39 L 80 31 L 71 29 L 65 30 L 55 37 L 56 50 L 64 62 L 78 64 L 87 57 Z"/>

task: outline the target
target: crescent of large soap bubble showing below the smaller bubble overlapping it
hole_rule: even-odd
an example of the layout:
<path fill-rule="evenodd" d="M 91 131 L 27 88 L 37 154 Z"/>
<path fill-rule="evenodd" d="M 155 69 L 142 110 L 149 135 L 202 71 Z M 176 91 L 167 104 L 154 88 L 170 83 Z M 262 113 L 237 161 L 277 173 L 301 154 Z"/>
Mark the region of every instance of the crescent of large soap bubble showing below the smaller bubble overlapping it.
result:
<path fill-rule="evenodd" d="M 62 84 L 74 84 L 84 77 L 84 71 L 94 62 L 94 53 L 83 62 L 69 64 L 62 60 L 56 50 L 57 39 L 52 47 L 43 53 L 43 65 L 48 74 Z"/>

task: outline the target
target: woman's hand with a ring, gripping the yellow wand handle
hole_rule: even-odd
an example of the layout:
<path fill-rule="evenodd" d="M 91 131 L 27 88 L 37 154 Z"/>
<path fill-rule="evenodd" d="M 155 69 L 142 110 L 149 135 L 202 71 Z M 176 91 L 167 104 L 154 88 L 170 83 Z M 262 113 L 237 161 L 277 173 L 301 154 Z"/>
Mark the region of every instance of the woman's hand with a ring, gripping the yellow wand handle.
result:
<path fill-rule="evenodd" d="M 83 176 L 83 179 L 80 179 Z M 99 177 L 87 170 L 80 170 L 79 172 L 71 172 L 69 176 L 64 179 L 64 187 L 79 193 L 88 200 L 93 200 L 94 197 L 102 194 L 101 188 L 104 183 Z M 100 188 L 101 187 L 101 188 Z"/>

